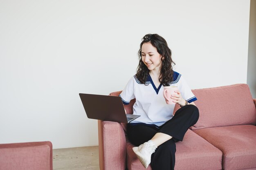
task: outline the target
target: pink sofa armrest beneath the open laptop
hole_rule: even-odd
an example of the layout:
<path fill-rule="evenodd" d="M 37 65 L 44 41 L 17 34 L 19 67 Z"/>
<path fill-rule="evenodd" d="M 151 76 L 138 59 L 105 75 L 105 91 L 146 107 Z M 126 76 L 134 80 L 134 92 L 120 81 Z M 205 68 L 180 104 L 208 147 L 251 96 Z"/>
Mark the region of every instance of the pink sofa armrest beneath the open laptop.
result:
<path fill-rule="evenodd" d="M 125 170 L 126 137 L 120 123 L 98 120 L 100 170 Z"/>

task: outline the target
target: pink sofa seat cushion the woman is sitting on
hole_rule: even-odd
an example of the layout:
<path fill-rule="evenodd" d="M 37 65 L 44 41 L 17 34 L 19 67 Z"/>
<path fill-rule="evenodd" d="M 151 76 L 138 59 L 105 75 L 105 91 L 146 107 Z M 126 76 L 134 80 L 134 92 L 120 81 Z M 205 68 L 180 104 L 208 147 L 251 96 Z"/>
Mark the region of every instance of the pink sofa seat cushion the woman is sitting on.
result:
<path fill-rule="evenodd" d="M 126 143 L 128 170 L 145 170 L 132 150 L 130 142 Z M 222 152 L 209 144 L 192 130 L 188 130 L 183 141 L 176 142 L 175 170 L 221 170 Z M 151 170 L 148 166 L 147 170 Z"/>

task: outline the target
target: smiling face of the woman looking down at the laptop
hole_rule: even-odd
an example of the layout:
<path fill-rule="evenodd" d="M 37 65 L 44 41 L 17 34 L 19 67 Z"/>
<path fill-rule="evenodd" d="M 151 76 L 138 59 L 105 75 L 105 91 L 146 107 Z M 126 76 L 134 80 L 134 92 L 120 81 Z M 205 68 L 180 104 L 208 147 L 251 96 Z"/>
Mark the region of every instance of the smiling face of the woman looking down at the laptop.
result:
<path fill-rule="evenodd" d="M 150 43 L 145 42 L 141 46 L 141 60 L 150 71 L 159 71 L 162 64 L 162 55 L 157 52 L 157 49 Z"/>

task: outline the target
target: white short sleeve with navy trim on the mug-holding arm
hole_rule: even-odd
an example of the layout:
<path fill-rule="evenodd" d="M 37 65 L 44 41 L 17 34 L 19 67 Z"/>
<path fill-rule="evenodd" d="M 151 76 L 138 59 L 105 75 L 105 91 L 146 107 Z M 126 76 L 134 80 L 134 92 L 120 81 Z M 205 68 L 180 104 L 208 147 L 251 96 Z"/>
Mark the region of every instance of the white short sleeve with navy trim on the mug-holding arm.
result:
<path fill-rule="evenodd" d="M 195 95 L 192 93 L 191 89 L 189 88 L 189 85 L 187 84 L 186 80 L 183 78 L 183 76 L 180 77 L 180 81 L 179 81 L 179 91 L 183 97 L 183 99 L 185 99 L 187 102 L 191 103 L 197 100 L 197 98 L 195 97 Z"/>

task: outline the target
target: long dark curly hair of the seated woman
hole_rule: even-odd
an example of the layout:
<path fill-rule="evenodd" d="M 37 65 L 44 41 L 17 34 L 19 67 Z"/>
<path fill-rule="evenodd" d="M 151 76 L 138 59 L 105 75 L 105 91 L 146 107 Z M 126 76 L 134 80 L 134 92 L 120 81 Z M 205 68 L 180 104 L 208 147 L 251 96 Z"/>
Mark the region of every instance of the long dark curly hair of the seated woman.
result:
<path fill-rule="evenodd" d="M 142 42 L 140 44 L 138 56 L 139 56 L 139 66 L 137 67 L 136 77 L 142 84 L 146 84 L 146 79 L 149 74 L 149 70 L 147 66 L 141 59 L 141 47 L 145 42 L 150 42 L 156 49 L 157 52 L 162 55 L 162 65 L 160 66 L 160 76 L 159 82 L 164 86 L 170 86 L 168 83 L 173 81 L 173 62 L 171 58 L 171 49 L 169 49 L 166 40 L 162 38 L 158 34 L 147 34 L 142 38 Z"/>

